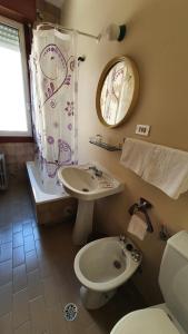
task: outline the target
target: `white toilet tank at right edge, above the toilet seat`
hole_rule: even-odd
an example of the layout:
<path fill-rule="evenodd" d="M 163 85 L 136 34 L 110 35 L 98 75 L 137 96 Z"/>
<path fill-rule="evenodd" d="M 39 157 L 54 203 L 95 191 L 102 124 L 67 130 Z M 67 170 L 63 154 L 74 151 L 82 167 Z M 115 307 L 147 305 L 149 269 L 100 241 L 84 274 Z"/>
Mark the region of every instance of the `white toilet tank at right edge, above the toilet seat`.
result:
<path fill-rule="evenodd" d="M 188 232 L 181 230 L 168 239 L 159 285 L 167 307 L 188 333 Z"/>

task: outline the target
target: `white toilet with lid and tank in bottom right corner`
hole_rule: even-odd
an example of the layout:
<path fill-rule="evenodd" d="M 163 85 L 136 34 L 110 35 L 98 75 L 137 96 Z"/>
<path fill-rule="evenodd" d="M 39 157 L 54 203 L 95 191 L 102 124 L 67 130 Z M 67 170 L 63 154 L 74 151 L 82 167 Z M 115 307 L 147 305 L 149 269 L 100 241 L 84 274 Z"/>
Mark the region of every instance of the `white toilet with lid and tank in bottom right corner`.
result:
<path fill-rule="evenodd" d="M 165 304 L 127 314 L 110 334 L 188 333 L 188 232 L 179 232 L 168 239 L 159 285 Z"/>

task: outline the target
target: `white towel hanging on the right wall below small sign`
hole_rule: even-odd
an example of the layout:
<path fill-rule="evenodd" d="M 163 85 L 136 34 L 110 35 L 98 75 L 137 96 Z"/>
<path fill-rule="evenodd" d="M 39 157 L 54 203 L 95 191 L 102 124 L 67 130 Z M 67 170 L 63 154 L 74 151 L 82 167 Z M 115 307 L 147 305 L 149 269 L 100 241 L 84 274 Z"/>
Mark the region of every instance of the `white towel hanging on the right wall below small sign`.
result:
<path fill-rule="evenodd" d="M 120 163 L 177 199 L 188 190 L 188 153 L 127 138 Z"/>

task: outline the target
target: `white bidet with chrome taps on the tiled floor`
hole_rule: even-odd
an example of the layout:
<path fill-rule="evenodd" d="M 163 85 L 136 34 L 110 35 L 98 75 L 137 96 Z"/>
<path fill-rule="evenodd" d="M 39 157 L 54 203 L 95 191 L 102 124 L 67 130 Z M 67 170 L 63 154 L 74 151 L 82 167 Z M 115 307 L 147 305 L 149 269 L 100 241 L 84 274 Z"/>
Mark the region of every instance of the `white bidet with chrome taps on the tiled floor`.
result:
<path fill-rule="evenodd" d="M 80 295 L 86 308 L 103 306 L 140 262 L 141 254 L 129 239 L 107 237 L 81 248 L 75 258 L 75 273 L 82 284 Z"/>

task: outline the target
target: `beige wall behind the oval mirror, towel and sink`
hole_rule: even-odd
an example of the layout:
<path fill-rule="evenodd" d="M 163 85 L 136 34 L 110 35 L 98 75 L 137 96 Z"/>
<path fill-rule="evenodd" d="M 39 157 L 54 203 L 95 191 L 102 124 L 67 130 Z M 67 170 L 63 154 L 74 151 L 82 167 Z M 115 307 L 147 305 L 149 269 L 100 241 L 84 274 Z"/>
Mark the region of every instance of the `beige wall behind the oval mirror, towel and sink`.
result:
<path fill-rule="evenodd" d="M 165 243 L 159 240 L 159 226 L 166 225 L 170 233 L 188 229 L 188 194 L 170 199 L 120 166 L 119 153 L 93 147 L 88 140 L 101 134 L 113 144 L 120 143 L 123 137 L 136 137 L 137 124 L 148 124 L 151 132 L 146 140 L 188 150 L 187 12 L 186 0 L 67 0 L 62 7 L 63 26 L 93 35 L 110 22 L 128 26 L 121 43 L 97 45 L 79 37 L 79 55 L 87 57 L 79 72 L 79 159 L 98 160 L 126 184 L 123 194 L 98 202 L 99 229 L 126 233 L 128 207 L 140 196 L 154 205 L 150 216 L 155 233 L 144 242 L 135 239 L 144 252 L 142 274 L 136 274 L 135 283 L 149 304 L 161 301 L 157 278 Z M 108 129 L 97 118 L 96 88 L 102 68 L 118 55 L 137 62 L 140 95 L 130 119 L 118 129 Z"/>

